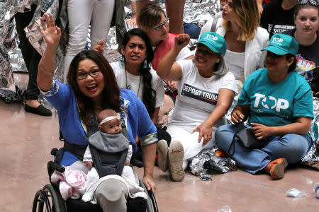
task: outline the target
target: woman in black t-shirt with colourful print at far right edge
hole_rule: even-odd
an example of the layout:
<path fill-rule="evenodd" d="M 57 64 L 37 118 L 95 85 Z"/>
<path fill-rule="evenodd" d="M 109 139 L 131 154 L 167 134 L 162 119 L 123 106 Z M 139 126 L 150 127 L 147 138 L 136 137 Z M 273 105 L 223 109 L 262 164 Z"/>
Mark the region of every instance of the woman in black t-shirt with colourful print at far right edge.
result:
<path fill-rule="evenodd" d="M 284 34 L 295 37 L 299 43 L 297 69 L 308 81 L 313 95 L 319 96 L 319 16 L 318 1 L 299 1 L 294 19 L 296 28 Z"/>

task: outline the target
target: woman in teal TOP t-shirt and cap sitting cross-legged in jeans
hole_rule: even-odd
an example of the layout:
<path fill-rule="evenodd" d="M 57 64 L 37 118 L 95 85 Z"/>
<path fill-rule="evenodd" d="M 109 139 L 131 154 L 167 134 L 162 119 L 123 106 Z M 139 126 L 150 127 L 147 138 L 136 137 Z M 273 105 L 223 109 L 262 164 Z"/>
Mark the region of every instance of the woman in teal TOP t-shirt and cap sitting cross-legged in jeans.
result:
<path fill-rule="evenodd" d="M 294 71 L 298 42 L 293 37 L 276 34 L 263 50 L 267 50 L 266 69 L 247 78 L 230 121 L 237 124 L 248 119 L 247 126 L 266 146 L 249 149 L 233 141 L 237 125 L 220 126 L 215 136 L 217 146 L 238 167 L 251 174 L 264 170 L 280 179 L 287 164 L 298 163 L 312 145 L 308 131 L 313 98 L 305 78 Z"/>

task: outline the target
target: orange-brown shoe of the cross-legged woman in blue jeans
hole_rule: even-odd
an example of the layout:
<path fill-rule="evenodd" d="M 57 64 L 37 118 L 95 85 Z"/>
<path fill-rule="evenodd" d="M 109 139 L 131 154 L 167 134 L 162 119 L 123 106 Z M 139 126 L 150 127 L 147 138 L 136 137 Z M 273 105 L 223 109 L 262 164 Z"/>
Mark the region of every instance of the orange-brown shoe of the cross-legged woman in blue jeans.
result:
<path fill-rule="evenodd" d="M 273 179 L 281 179 L 284 177 L 285 169 L 288 165 L 286 158 L 279 158 L 272 160 L 270 163 L 264 167 L 264 171 L 269 173 Z"/>

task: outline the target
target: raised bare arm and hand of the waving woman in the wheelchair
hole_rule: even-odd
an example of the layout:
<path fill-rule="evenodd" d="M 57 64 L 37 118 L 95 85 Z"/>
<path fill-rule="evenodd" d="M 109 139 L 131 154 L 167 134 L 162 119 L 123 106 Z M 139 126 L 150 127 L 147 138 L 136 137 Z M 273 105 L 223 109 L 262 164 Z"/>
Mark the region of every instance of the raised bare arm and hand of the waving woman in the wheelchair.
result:
<path fill-rule="evenodd" d="M 52 87 L 52 78 L 55 70 L 55 54 L 57 52 L 57 45 L 59 45 L 61 30 L 55 25 L 52 14 L 45 13 L 45 21 L 41 18 L 41 26 L 38 25 L 38 30 L 43 35 L 47 48 L 40 60 L 38 66 L 38 87 L 41 90 L 50 90 Z"/>

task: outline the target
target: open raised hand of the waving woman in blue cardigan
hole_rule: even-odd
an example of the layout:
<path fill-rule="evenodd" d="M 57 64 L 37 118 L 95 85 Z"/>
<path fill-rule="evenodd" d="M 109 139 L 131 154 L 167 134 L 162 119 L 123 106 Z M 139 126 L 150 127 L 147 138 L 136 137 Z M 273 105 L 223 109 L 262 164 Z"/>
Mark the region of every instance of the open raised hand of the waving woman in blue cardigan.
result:
<path fill-rule="evenodd" d="M 45 42 L 47 42 L 48 46 L 56 46 L 59 44 L 60 37 L 61 37 L 61 30 L 55 25 L 55 20 L 53 20 L 52 14 L 45 13 L 45 22 L 43 18 L 41 20 L 41 27 L 38 25 L 38 30 L 43 35 Z"/>

